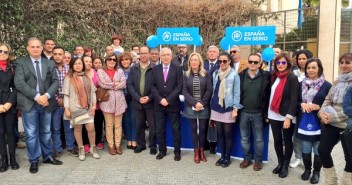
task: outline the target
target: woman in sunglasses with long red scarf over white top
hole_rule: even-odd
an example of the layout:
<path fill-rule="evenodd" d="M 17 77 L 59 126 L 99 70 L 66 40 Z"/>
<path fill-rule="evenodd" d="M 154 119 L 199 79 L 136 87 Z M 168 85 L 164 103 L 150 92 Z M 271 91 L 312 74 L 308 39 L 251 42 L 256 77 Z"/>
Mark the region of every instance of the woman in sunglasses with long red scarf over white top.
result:
<path fill-rule="evenodd" d="M 298 79 L 291 72 L 291 67 L 289 56 L 284 53 L 279 54 L 274 59 L 274 69 L 271 75 L 268 118 L 279 163 L 273 173 L 279 174 L 281 178 L 288 175 L 288 165 L 293 153 L 292 136 L 295 126 L 292 124 L 292 119 L 297 113 L 299 92 Z M 285 147 L 282 145 L 282 139 Z"/>

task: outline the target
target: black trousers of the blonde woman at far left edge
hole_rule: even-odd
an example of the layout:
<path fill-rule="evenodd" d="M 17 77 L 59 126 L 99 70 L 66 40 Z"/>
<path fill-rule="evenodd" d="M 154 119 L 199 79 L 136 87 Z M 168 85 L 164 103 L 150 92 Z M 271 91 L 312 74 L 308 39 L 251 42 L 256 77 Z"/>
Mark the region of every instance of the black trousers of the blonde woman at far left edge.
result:
<path fill-rule="evenodd" d="M 15 136 L 15 120 L 17 114 L 11 112 L 5 112 L 0 114 L 0 154 L 7 155 L 7 147 L 9 147 L 9 153 L 15 154 L 16 150 L 16 136 Z"/>

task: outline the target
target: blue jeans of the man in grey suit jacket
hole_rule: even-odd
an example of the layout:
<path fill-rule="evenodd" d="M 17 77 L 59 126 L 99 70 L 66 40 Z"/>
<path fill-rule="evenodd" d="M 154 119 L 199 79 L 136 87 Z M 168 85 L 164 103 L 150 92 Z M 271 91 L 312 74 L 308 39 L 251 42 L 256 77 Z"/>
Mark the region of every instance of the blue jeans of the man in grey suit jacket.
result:
<path fill-rule="evenodd" d="M 39 162 L 40 156 L 46 160 L 52 155 L 51 112 L 35 103 L 30 111 L 22 112 L 22 117 L 29 162 Z"/>

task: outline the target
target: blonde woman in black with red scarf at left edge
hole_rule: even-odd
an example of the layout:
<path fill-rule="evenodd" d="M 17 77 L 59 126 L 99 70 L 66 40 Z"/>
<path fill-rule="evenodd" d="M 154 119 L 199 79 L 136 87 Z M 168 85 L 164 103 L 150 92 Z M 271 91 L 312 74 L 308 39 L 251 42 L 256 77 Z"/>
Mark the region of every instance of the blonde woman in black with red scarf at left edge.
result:
<path fill-rule="evenodd" d="M 13 170 L 20 168 L 16 162 L 17 91 L 14 85 L 13 60 L 14 54 L 11 47 L 0 43 L 0 172 L 5 172 L 9 168 L 7 152 L 10 154 L 11 168 Z"/>

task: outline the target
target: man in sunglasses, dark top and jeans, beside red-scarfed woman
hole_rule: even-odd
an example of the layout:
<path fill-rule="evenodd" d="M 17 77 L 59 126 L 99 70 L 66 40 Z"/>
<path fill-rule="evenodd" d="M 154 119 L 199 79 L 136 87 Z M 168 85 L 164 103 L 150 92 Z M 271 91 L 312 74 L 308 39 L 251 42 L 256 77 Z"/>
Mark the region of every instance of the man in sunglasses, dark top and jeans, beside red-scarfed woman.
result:
<path fill-rule="evenodd" d="M 270 99 L 270 73 L 260 69 L 261 57 L 253 53 L 248 57 L 247 69 L 240 76 L 241 99 L 244 107 L 240 112 L 241 144 L 244 159 L 240 168 L 251 165 L 251 133 L 254 135 L 254 171 L 263 168 L 263 122 L 267 120 L 267 110 Z"/>

